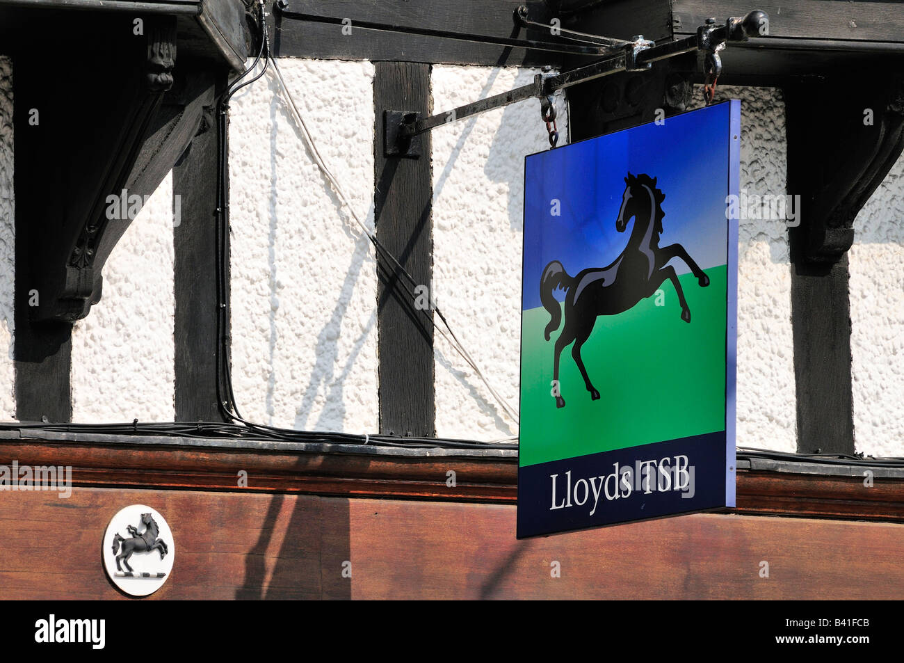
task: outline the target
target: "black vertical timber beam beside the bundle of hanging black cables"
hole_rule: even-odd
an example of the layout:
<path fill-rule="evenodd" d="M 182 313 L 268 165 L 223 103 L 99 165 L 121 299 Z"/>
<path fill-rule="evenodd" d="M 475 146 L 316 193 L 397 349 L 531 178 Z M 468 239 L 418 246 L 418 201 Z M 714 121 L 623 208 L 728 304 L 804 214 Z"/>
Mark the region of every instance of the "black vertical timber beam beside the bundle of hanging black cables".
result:
<path fill-rule="evenodd" d="M 173 168 L 174 205 L 181 218 L 174 229 L 174 343 L 176 421 L 221 421 L 217 404 L 217 167 L 220 148 L 214 90 L 224 79 L 210 77 L 200 133 Z M 229 266 L 229 238 L 223 257 Z M 227 297 L 229 279 L 226 281 Z"/>

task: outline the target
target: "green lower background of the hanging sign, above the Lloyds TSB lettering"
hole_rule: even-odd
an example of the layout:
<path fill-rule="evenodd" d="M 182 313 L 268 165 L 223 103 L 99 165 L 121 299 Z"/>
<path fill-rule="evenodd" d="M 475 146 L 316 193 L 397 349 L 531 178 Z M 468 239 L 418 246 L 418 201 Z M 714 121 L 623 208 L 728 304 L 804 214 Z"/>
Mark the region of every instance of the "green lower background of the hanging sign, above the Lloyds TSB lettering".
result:
<path fill-rule="evenodd" d="M 561 326 L 550 340 L 543 329 L 546 309 L 522 313 L 521 431 L 522 467 L 599 451 L 725 430 L 725 332 L 727 270 L 705 270 L 710 284 L 701 288 L 683 274 L 691 322 L 671 281 L 617 316 L 599 316 L 581 348 L 593 401 L 571 346 L 560 357 L 557 408 L 552 391 L 552 353 Z"/>

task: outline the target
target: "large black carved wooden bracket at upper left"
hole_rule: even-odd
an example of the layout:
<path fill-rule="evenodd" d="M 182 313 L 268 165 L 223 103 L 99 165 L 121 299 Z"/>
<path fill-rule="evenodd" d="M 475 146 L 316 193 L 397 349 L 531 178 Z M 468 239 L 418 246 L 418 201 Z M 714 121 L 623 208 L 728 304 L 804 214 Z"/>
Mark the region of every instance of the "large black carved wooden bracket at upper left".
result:
<path fill-rule="evenodd" d="M 110 251 L 213 103 L 209 76 L 176 68 L 175 17 L 146 16 L 140 34 L 130 16 L 107 17 L 98 30 L 80 35 L 85 48 L 61 31 L 59 50 L 16 63 L 16 106 L 40 118 L 16 132 L 16 167 L 27 175 L 17 180 L 27 264 L 16 279 L 20 294 L 37 295 L 33 322 L 88 315 Z M 64 52 L 79 53 L 82 73 Z"/>

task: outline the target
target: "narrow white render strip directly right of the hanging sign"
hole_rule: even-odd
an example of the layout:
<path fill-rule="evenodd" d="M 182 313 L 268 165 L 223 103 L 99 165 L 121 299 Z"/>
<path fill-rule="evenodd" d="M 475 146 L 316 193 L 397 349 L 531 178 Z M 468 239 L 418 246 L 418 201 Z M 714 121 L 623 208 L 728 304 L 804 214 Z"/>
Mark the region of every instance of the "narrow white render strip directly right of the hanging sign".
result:
<path fill-rule="evenodd" d="M 694 87 L 694 108 L 702 106 Z M 720 86 L 715 102 L 741 100 L 740 187 L 785 194 L 785 99 L 774 88 Z M 797 450 L 791 271 L 784 219 L 740 219 L 738 414 L 740 447 Z"/>

